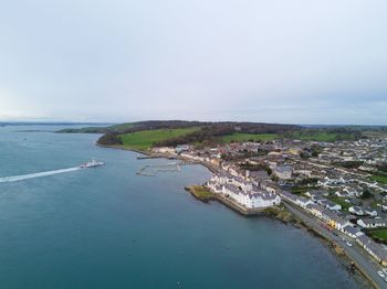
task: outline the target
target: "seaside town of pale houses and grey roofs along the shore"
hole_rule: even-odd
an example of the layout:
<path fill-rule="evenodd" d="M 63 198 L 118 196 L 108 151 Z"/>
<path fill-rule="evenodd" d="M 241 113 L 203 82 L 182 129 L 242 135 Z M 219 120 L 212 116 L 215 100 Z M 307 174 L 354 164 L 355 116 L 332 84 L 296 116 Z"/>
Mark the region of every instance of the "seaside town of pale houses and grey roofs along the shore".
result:
<path fill-rule="evenodd" d="M 205 164 L 212 171 L 206 188 L 245 211 L 282 203 L 341 239 L 353 260 L 370 257 L 374 266 L 365 274 L 377 274 L 387 282 L 387 269 L 381 267 L 387 266 L 386 148 L 387 138 L 377 137 L 334 142 L 282 139 L 200 149 L 158 147 L 153 153 Z M 360 258 L 351 254 L 355 250 Z"/>

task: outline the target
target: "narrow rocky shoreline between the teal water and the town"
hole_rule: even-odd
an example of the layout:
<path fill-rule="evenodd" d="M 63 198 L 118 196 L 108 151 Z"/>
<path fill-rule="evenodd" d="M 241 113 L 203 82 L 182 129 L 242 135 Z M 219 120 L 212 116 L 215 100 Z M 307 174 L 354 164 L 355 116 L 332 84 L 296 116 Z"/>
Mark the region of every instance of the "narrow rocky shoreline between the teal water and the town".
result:
<path fill-rule="evenodd" d="M 132 149 L 123 146 L 105 146 L 105 144 L 100 144 L 96 143 L 96 146 L 102 147 L 102 148 L 112 148 L 112 149 L 121 149 L 121 150 L 127 150 L 127 151 L 133 151 L 139 154 L 143 154 L 144 157 L 137 157 L 137 159 L 175 159 L 175 160 L 180 160 L 184 161 L 187 164 L 201 164 L 205 168 L 207 168 L 210 172 L 217 172 L 215 168 L 212 168 L 210 164 L 196 161 L 192 162 L 190 160 L 186 160 L 185 158 L 181 157 L 170 157 L 167 154 L 155 154 L 150 151 L 143 151 L 143 150 L 137 150 L 137 149 Z M 213 194 L 210 199 L 207 201 L 201 200 L 192 191 L 189 189 L 189 185 L 185 186 L 185 190 L 188 191 L 196 200 L 201 201 L 202 203 L 209 203 L 211 201 L 216 201 L 231 211 L 238 213 L 239 215 L 243 217 L 268 217 L 270 220 L 276 220 L 285 225 L 291 225 L 295 228 L 303 229 L 311 234 L 313 237 L 316 237 L 320 239 L 323 246 L 325 246 L 337 259 L 337 261 L 343 266 L 343 269 L 348 271 L 348 268 L 351 266 L 351 263 L 355 265 L 355 270 L 351 276 L 354 278 L 354 280 L 359 285 L 360 288 L 379 288 L 374 280 L 367 276 L 367 274 L 362 269 L 360 266 L 358 266 L 354 260 L 346 255 L 345 250 L 338 246 L 335 242 L 330 240 L 325 236 L 323 236 L 318 231 L 314 229 L 312 226 L 308 226 L 303 222 L 301 218 L 299 218 L 295 214 L 290 212 L 284 205 L 275 206 L 275 207 L 269 207 L 269 208 L 262 208 L 262 210 L 247 210 L 243 208 L 234 202 L 231 202 L 230 200 L 227 200 L 226 197 L 219 196 L 217 194 Z"/>

